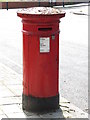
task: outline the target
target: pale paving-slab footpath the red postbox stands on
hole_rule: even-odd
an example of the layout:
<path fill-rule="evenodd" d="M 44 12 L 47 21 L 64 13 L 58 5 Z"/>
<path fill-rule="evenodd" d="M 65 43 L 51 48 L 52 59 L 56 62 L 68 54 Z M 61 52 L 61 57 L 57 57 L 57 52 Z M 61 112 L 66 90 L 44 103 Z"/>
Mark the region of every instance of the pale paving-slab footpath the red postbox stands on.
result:
<path fill-rule="evenodd" d="M 8 118 L 88 118 L 88 114 L 60 96 L 60 108 L 49 113 L 32 113 L 22 110 L 22 77 L 15 71 L 0 63 L 0 110 L 1 117 Z M 3 77 L 4 76 L 4 77 Z M 7 84 L 6 79 L 14 84 Z M 5 82 L 3 82 L 5 80 Z M 12 82 L 12 83 L 13 83 Z M 19 88 L 20 87 L 20 88 Z M 14 93 L 16 90 L 17 93 Z M 20 90 L 20 93 L 18 92 Z M 3 113 L 2 113 L 3 111 Z"/>

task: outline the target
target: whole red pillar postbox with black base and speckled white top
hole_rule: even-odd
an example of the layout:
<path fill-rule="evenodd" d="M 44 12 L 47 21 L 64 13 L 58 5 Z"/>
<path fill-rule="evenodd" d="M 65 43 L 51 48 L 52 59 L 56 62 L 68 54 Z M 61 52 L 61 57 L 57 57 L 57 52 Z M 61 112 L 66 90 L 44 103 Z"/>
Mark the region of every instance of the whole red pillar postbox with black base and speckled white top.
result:
<path fill-rule="evenodd" d="M 59 108 L 59 19 L 64 12 L 33 7 L 17 12 L 23 23 L 23 109 Z"/>

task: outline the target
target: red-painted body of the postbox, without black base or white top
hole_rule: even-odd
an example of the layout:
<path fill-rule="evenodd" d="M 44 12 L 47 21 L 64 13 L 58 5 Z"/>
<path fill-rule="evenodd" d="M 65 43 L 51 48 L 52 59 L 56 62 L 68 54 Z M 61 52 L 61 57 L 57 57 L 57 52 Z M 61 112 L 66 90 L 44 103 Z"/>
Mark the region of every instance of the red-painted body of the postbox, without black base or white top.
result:
<path fill-rule="evenodd" d="M 23 94 L 56 96 L 59 94 L 59 19 L 65 13 L 17 15 L 23 23 Z M 40 37 L 50 37 L 50 52 L 40 53 Z"/>

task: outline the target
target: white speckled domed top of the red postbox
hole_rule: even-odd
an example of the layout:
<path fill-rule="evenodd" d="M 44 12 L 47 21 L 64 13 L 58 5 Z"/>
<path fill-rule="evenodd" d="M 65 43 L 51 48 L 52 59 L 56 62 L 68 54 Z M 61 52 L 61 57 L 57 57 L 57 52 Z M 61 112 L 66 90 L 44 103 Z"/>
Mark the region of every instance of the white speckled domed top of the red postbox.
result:
<path fill-rule="evenodd" d="M 27 9 L 22 9 L 17 13 L 21 14 L 33 14 L 33 15 L 53 15 L 63 13 L 61 10 L 51 7 L 32 7 Z"/>

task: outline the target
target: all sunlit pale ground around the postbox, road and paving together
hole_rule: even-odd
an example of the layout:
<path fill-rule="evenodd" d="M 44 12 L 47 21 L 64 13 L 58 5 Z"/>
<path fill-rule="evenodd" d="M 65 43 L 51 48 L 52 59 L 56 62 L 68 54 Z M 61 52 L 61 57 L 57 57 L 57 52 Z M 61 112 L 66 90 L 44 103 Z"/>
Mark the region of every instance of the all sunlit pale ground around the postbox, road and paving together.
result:
<path fill-rule="evenodd" d="M 88 118 L 88 7 L 60 9 L 62 111 L 45 114 L 22 111 L 22 23 L 17 9 L 0 10 L 0 118 Z"/>

